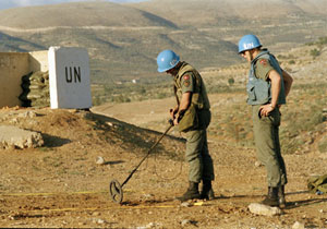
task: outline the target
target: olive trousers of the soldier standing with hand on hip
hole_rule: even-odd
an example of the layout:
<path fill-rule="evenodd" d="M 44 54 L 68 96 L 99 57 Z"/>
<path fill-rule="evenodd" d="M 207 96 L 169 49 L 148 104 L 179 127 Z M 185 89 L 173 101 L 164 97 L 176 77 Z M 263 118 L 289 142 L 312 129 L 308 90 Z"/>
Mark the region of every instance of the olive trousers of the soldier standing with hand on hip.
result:
<path fill-rule="evenodd" d="M 252 106 L 252 120 L 257 158 L 267 170 L 268 186 L 287 184 L 284 160 L 280 152 L 280 112 L 275 108 L 267 117 L 259 116 L 259 105 Z"/>

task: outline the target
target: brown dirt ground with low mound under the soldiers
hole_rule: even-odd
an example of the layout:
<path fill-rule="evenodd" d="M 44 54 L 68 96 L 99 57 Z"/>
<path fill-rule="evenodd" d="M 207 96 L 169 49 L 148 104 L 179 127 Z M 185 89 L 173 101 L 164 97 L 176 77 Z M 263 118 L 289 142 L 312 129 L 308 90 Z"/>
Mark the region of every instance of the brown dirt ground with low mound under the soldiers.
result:
<path fill-rule="evenodd" d="M 159 121 L 168 118 L 170 99 L 146 103 L 124 105 L 130 106 L 125 117 L 118 112 L 126 109 L 122 105 L 92 111 L 0 110 L 0 124 L 40 132 L 45 140 L 39 148 L 0 149 L 0 227 L 259 229 L 292 228 L 299 221 L 306 228 L 327 228 L 326 195 L 306 189 L 308 177 L 326 173 L 327 155 L 317 150 L 284 155 L 288 206 L 280 216 L 257 216 L 247 206 L 266 194 L 266 172 L 255 164 L 254 149 L 209 136 L 216 197 L 181 204 L 174 197 L 187 186 L 187 165 L 184 141 L 175 130 L 123 186 L 123 202 L 113 203 L 109 182 L 123 183 L 168 126 L 165 122 L 128 123 L 141 120 L 140 110 L 144 119 L 154 113 Z M 152 125 L 154 131 L 138 124 Z M 96 162 L 99 156 L 102 165 Z"/>

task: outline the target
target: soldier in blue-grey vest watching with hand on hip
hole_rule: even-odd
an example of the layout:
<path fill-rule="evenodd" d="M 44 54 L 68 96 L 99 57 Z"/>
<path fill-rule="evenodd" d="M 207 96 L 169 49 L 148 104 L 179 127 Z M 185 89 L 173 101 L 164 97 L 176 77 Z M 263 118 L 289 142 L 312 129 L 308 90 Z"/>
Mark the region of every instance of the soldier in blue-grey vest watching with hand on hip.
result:
<path fill-rule="evenodd" d="M 279 108 L 286 104 L 293 79 L 267 49 L 262 49 L 255 35 L 245 35 L 240 39 L 239 53 L 251 63 L 246 85 L 247 104 L 252 106 L 257 157 L 267 169 L 268 194 L 262 203 L 284 207 L 284 185 L 288 180 L 280 153 Z"/>

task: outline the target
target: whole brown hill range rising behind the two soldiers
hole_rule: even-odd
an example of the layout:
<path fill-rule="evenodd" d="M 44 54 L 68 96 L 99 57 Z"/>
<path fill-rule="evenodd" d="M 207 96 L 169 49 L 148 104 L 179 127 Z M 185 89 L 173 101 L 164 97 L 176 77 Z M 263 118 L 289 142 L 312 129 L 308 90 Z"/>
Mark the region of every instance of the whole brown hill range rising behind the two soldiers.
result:
<path fill-rule="evenodd" d="M 237 43 L 244 34 L 258 35 L 275 52 L 326 36 L 325 9 L 325 0 L 94 1 L 8 9 L 0 11 L 0 51 L 85 47 L 93 83 L 160 82 L 156 57 L 162 49 L 175 50 L 198 69 L 229 65 L 240 61 Z"/>

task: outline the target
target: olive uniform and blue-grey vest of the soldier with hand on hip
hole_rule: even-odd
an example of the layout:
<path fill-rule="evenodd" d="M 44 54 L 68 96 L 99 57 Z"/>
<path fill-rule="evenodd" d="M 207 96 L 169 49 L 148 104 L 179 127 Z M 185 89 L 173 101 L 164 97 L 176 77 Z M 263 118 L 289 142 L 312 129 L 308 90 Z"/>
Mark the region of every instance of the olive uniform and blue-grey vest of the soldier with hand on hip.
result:
<path fill-rule="evenodd" d="M 277 106 L 267 117 L 261 117 L 259 107 L 270 103 L 270 85 L 268 83 L 269 72 L 276 70 L 281 77 L 282 73 L 275 57 L 267 50 L 262 51 L 252 61 L 252 70 L 253 72 L 250 72 L 250 81 L 255 76 L 256 79 L 253 79 L 254 81 L 259 80 L 261 82 L 266 82 L 268 86 L 268 95 L 261 100 L 261 96 L 258 96 L 261 95 L 261 92 L 258 92 L 258 88 L 257 92 L 254 93 L 254 83 L 252 83 L 252 86 L 250 85 L 251 83 L 247 84 L 247 104 L 252 105 L 252 120 L 257 157 L 266 166 L 268 186 L 277 188 L 284 185 L 288 182 L 279 143 L 280 112 Z M 250 92 L 251 89 L 252 92 Z M 253 96 L 255 99 L 252 99 L 254 98 Z M 281 91 L 278 98 L 278 105 L 281 104 L 286 104 L 283 81 L 281 81 Z"/>

